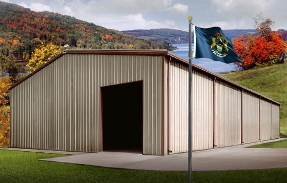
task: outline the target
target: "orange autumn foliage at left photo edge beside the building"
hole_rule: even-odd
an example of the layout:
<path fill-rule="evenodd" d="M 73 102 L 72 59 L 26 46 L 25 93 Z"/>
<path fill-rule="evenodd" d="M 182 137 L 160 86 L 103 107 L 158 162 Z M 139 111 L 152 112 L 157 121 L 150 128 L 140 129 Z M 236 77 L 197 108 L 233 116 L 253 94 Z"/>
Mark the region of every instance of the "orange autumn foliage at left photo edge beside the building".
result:
<path fill-rule="evenodd" d="M 0 148 L 10 147 L 10 106 L 6 105 L 10 85 L 8 76 L 0 78 Z"/>

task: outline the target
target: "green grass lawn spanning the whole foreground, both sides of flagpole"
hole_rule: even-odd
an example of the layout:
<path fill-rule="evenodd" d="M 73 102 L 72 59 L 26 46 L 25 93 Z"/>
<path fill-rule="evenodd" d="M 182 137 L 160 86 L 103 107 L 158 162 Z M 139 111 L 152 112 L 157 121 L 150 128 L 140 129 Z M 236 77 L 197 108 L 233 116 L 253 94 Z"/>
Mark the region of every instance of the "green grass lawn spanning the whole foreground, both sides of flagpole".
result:
<path fill-rule="evenodd" d="M 145 172 L 62 164 L 38 159 L 60 157 L 0 150 L 0 182 L 187 182 L 180 172 Z M 172 165 L 171 165 L 172 166 Z M 285 182 L 287 169 L 193 173 L 193 182 Z"/>

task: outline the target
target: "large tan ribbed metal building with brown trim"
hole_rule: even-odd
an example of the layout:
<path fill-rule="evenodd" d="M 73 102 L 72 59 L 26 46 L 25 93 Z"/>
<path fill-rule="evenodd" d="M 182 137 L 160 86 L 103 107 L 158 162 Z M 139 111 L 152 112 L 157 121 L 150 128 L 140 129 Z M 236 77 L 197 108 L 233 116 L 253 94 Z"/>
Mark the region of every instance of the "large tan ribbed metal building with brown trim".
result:
<path fill-rule="evenodd" d="M 280 137 L 280 104 L 192 70 L 193 150 Z M 188 151 L 188 62 L 167 50 L 65 50 L 10 88 L 11 147 Z"/>

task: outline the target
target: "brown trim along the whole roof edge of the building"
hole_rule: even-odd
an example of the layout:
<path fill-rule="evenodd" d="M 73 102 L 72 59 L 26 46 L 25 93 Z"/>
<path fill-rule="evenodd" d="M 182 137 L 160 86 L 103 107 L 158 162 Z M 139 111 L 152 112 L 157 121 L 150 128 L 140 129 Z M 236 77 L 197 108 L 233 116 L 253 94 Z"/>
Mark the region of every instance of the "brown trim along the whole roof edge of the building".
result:
<path fill-rule="evenodd" d="M 32 75 L 34 75 L 35 73 L 39 72 L 40 70 L 42 70 L 43 68 L 45 68 L 46 66 L 48 66 L 49 64 L 53 63 L 56 59 L 60 58 L 61 56 L 65 55 L 65 54 L 103 54 L 103 55 L 149 55 L 149 56 L 170 56 L 172 58 L 174 58 L 175 60 L 177 60 L 178 62 L 181 62 L 185 65 L 188 65 L 189 62 L 188 60 L 181 58 L 180 56 L 177 56 L 171 52 L 169 52 L 168 50 L 64 50 L 63 53 L 58 54 L 57 56 L 55 56 L 54 58 L 52 58 L 49 62 L 47 62 L 46 64 L 44 64 L 43 66 L 39 67 L 37 70 L 35 70 L 34 72 L 32 72 L 31 74 L 27 75 L 26 77 L 24 77 L 23 79 L 19 80 L 17 83 L 15 83 L 14 85 L 12 85 L 8 90 L 12 90 L 13 88 L 15 88 L 17 85 L 19 85 L 20 83 L 24 82 L 24 80 L 28 79 L 29 77 L 31 77 Z M 244 89 L 244 91 L 248 91 L 250 93 L 253 93 L 255 95 L 257 95 L 258 97 L 262 97 L 264 99 L 267 100 L 271 100 L 273 101 L 273 103 L 276 103 L 277 105 L 281 105 L 280 103 L 278 103 L 275 100 L 272 100 L 264 95 L 261 95 L 253 90 L 250 90 L 246 87 L 243 87 L 235 82 L 233 82 L 232 80 L 229 80 L 225 77 L 222 77 L 214 72 L 211 72 L 203 67 L 200 67 L 194 63 L 192 63 L 192 67 L 194 69 L 196 69 L 197 71 L 203 72 L 205 74 L 208 74 L 212 77 L 216 77 L 216 79 L 220 79 L 223 82 L 229 83 L 239 89 Z"/>

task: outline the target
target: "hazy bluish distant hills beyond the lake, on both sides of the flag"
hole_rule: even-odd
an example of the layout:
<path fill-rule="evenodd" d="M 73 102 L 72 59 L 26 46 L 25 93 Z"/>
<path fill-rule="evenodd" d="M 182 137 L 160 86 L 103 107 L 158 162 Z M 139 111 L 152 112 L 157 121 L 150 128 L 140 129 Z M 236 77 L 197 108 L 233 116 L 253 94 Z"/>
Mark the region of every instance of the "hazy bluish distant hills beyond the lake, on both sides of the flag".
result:
<path fill-rule="evenodd" d="M 257 32 L 255 29 L 233 29 L 222 31 L 230 38 L 234 38 L 243 34 L 254 34 Z M 189 33 L 176 29 L 127 30 L 121 32 L 142 39 L 156 39 L 158 41 L 167 41 L 172 44 L 189 42 Z"/>

